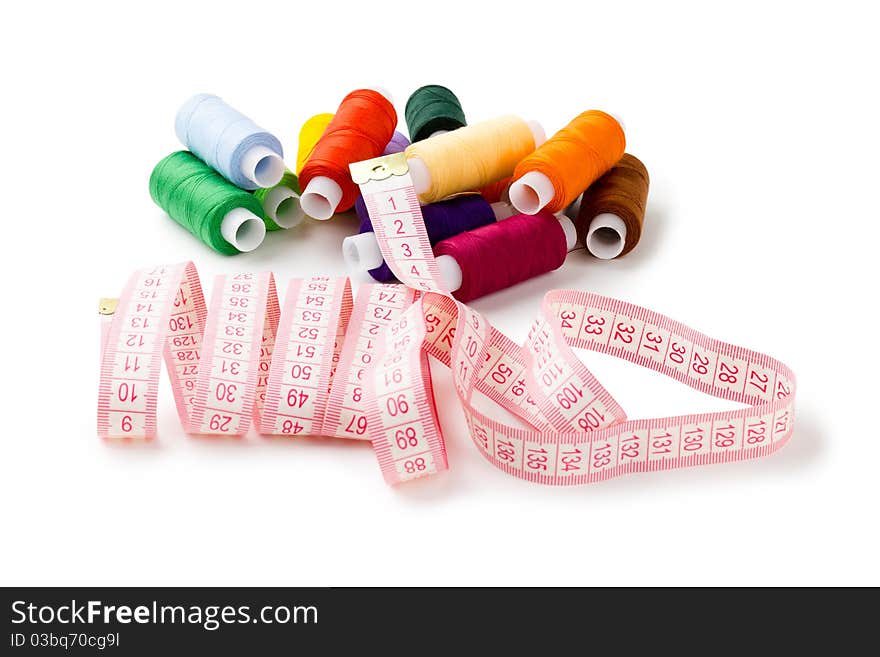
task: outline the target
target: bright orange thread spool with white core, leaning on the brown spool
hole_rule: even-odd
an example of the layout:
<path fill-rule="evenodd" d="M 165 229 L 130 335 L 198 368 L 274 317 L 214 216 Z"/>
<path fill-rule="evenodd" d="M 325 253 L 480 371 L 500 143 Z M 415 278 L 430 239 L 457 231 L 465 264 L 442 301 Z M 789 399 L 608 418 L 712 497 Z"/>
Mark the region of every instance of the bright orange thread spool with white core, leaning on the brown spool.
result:
<path fill-rule="evenodd" d="M 626 136 L 610 114 L 588 110 L 516 166 L 510 200 L 524 214 L 559 212 L 623 156 Z"/>

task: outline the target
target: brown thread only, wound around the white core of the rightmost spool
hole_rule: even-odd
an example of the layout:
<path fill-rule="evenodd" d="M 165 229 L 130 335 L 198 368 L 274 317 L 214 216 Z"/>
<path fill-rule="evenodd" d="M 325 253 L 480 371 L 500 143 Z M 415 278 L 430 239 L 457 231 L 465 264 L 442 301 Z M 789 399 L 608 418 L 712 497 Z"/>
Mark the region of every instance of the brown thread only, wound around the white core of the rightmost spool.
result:
<path fill-rule="evenodd" d="M 642 161 L 635 155 L 625 153 L 617 164 L 584 192 L 575 220 L 578 238 L 586 244 L 593 220 L 602 214 L 613 214 L 620 217 L 626 226 L 623 250 L 616 257 L 632 251 L 642 236 L 649 184 L 648 169 Z"/>

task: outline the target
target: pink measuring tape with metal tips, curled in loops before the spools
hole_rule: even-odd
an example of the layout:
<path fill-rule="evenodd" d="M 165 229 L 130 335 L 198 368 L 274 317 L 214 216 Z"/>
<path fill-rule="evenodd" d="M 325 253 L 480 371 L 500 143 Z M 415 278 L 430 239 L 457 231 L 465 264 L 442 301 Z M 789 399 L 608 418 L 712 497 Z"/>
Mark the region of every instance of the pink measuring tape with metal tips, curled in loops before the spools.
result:
<path fill-rule="evenodd" d="M 351 170 L 403 285 L 363 285 L 353 300 L 345 278 L 295 279 L 281 308 L 271 274 L 242 272 L 218 276 L 206 307 L 192 263 L 140 270 L 103 315 L 100 436 L 155 436 L 164 358 L 187 432 L 370 440 L 386 481 L 407 481 L 448 467 L 430 355 L 452 370 L 479 451 L 529 481 L 748 459 L 790 438 L 787 366 L 645 308 L 553 290 L 516 345 L 443 289 L 403 154 Z M 572 347 L 747 406 L 628 421 Z"/>

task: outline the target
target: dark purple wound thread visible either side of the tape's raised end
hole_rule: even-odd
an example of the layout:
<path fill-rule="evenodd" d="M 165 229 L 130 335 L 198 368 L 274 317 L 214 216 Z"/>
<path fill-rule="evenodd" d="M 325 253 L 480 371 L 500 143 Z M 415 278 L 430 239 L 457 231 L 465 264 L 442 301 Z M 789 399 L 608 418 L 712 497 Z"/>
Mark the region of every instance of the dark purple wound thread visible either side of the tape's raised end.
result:
<path fill-rule="evenodd" d="M 367 205 L 362 196 L 358 196 L 354 204 L 361 225 L 358 233 L 373 232 L 373 222 L 367 212 Z M 457 196 L 446 201 L 438 201 L 422 206 L 422 217 L 428 241 L 434 245 L 468 230 L 495 223 L 492 206 L 481 196 L 469 194 Z M 370 276 L 380 283 L 394 281 L 394 273 L 386 263 L 369 270 Z"/>

